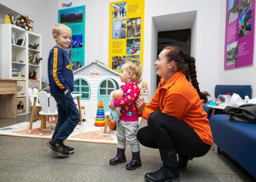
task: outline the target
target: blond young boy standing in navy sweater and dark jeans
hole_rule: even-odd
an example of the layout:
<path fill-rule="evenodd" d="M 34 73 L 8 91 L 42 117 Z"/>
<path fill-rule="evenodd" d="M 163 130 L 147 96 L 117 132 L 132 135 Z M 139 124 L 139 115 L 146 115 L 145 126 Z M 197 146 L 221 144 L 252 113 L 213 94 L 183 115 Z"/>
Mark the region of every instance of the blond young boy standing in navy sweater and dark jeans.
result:
<path fill-rule="evenodd" d="M 57 102 L 58 122 L 52 140 L 47 145 L 62 157 L 68 157 L 74 148 L 63 144 L 80 121 L 71 92 L 74 90 L 74 77 L 66 49 L 71 41 L 71 29 L 64 24 L 53 26 L 53 39 L 56 46 L 48 57 L 48 78 L 51 95 Z"/>

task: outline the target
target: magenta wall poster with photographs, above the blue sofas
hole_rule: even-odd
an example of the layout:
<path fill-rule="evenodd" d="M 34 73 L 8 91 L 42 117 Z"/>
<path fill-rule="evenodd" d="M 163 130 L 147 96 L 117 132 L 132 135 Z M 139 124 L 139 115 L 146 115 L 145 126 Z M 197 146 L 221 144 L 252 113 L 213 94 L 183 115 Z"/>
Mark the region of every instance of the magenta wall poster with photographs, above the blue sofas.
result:
<path fill-rule="evenodd" d="M 227 0 L 224 69 L 252 65 L 255 0 Z"/>

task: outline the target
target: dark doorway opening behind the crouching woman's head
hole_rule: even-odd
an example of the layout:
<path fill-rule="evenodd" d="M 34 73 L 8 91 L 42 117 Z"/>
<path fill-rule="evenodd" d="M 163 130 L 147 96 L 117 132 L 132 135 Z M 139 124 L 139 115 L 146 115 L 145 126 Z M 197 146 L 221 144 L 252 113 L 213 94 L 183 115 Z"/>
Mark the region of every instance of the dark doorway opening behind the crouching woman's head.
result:
<path fill-rule="evenodd" d="M 158 59 L 158 55 L 167 45 L 177 46 L 181 48 L 185 53 L 190 55 L 191 29 L 158 32 L 156 59 Z M 184 70 L 184 72 L 186 71 L 188 70 Z M 160 78 L 161 77 L 157 75 L 156 88 L 160 83 Z"/>

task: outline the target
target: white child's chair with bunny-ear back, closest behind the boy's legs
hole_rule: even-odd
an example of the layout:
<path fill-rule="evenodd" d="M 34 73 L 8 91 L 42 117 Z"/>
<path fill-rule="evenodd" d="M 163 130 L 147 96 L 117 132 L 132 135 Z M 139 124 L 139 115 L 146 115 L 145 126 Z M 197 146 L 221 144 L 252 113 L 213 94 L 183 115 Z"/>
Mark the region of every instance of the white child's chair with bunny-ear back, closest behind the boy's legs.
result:
<path fill-rule="evenodd" d="M 55 115 L 55 124 L 57 124 L 58 111 L 56 110 L 57 103 L 56 103 L 55 99 L 53 98 L 53 96 L 51 96 L 51 94 L 49 95 L 49 107 L 48 107 L 48 96 L 45 91 L 39 92 L 38 99 L 39 99 L 39 102 L 42 107 L 42 111 L 39 112 L 39 114 L 42 115 L 39 136 L 42 136 L 43 131 L 45 131 L 45 128 L 46 128 L 46 116 L 47 115 Z"/>

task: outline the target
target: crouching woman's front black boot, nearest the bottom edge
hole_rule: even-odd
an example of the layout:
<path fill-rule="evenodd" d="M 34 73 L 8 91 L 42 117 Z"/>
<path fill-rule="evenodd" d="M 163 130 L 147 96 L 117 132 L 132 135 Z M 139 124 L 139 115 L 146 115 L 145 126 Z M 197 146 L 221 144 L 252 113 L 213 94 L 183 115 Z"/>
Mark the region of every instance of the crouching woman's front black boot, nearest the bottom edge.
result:
<path fill-rule="evenodd" d="M 144 178 L 151 182 L 179 182 L 180 172 L 175 149 L 159 151 L 163 166 L 158 171 L 145 174 Z"/>

